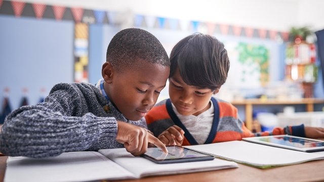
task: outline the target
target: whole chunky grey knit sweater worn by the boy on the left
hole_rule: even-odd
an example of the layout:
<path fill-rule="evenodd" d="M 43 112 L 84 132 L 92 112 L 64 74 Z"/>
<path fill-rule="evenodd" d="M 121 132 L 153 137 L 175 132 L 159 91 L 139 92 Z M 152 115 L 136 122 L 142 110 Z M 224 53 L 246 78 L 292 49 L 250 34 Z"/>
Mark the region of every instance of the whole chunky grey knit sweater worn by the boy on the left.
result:
<path fill-rule="evenodd" d="M 96 86 L 60 83 L 43 103 L 8 115 L 0 133 L 0 152 L 42 158 L 70 151 L 122 148 L 123 144 L 115 141 L 116 120 L 147 128 L 145 120 L 127 120 Z"/>

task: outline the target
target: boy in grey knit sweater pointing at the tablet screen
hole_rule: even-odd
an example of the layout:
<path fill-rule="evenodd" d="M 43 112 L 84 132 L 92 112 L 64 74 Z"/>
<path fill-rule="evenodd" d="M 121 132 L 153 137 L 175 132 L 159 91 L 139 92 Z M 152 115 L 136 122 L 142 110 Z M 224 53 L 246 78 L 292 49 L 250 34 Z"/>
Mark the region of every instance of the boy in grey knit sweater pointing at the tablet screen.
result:
<path fill-rule="evenodd" d="M 42 158 L 125 147 L 137 156 L 152 143 L 167 152 L 142 120 L 170 73 L 161 43 L 145 30 L 121 30 L 108 45 L 106 61 L 103 79 L 96 85 L 57 84 L 43 103 L 8 115 L 0 133 L 0 151 Z"/>

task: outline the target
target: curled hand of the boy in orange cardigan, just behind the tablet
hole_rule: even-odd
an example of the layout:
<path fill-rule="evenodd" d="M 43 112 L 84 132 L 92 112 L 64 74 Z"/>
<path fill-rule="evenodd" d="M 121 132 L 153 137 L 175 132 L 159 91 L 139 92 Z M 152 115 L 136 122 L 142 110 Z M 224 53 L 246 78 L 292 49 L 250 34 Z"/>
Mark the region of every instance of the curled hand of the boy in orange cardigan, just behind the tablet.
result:
<path fill-rule="evenodd" d="M 182 146 L 184 131 L 179 126 L 173 125 L 158 135 L 158 139 L 167 146 Z"/>

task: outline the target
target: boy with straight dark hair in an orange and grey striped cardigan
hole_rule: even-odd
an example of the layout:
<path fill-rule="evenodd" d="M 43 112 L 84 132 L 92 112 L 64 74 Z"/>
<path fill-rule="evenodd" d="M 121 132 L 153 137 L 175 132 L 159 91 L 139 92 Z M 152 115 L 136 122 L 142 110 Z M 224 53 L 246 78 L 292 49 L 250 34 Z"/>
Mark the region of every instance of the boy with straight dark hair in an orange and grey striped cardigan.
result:
<path fill-rule="evenodd" d="M 170 99 L 145 116 L 148 128 L 164 144 L 211 144 L 272 134 L 324 138 L 324 128 L 304 125 L 252 133 L 233 105 L 212 97 L 229 70 L 227 52 L 215 37 L 195 33 L 183 38 L 173 48 L 170 61 Z"/>

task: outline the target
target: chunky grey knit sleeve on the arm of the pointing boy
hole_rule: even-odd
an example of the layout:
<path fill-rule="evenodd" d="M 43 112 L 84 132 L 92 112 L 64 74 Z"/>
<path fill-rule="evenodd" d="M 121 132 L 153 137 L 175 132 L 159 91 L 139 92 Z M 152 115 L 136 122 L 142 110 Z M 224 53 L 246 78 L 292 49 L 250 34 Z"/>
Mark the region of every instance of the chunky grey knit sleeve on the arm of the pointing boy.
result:
<path fill-rule="evenodd" d="M 87 150 L 96 142 L 112 142 L 117 133 L 113 117 L 83 113 L 80 100 L 68 90 L 51 93 L 45 102 L 21 107 L 5 120 L 0 151 L 33 158 Z"/>

